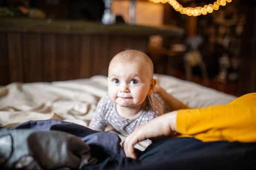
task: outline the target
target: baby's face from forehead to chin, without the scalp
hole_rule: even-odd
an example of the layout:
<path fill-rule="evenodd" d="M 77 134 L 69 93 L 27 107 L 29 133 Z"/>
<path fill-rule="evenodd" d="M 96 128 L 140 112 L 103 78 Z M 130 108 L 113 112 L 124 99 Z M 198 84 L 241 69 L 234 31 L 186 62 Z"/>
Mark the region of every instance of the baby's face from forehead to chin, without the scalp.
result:
<path fill-rule="evenodd" d="M 144 102 L 149 93 L 152 77 L 150 69 L 140 62 L 110 65 L 108 94 L 121 107 L 132 107 Z"/>

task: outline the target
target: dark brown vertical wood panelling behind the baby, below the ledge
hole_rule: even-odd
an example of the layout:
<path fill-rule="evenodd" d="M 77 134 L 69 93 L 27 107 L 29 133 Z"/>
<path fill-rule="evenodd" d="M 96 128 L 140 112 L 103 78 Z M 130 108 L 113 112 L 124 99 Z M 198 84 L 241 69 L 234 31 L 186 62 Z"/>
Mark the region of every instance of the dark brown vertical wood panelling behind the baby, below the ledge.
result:
<path fill-rule="evenodd" d="M 147 44 L 147 36 L 0 32 L 0 85 L 107 75 L 115 54 Z"/>

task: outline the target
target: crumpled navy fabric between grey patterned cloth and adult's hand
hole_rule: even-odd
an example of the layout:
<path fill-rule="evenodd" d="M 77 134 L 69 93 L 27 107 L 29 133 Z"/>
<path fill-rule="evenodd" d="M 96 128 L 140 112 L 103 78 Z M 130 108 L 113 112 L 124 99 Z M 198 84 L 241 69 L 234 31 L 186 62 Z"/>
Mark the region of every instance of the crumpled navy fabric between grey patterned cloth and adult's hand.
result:
<path fill-rule="evenodd" d="M 106 168 L 120 169 L 136 162 L 127 158 L 120 142 L 121 139 L 116 133 L 99 132 L 90 128 L 61 120 L 28 121 L 13 127 L 13 129 L 33 130 L 59 130 L 78 136 L 90 146 L 91 156 L 98 160 L 98 164 L 86 166 L 86 170 L 99 170 Z"/>

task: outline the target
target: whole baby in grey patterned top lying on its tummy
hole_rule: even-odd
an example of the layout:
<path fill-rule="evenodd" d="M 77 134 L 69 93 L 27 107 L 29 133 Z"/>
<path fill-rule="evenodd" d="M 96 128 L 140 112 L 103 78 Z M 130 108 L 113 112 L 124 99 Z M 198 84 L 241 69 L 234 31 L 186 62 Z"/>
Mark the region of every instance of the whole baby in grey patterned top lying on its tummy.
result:
<path fill-rule="evenodd" d="M 108 95 L 100 99 L 89 127 L 104 131 L 109 125 L 130 134 L 168 112 L 168 106 L 153 94 L 157 83 L 153 74 L 153 63 L 145 53 L 126 50 L 116 54 L 108 68 Z"/>

